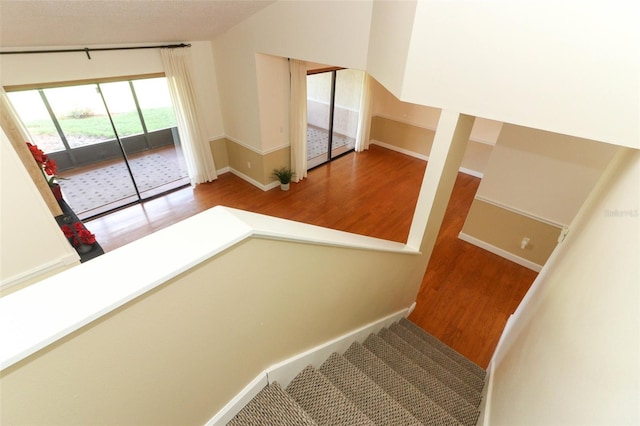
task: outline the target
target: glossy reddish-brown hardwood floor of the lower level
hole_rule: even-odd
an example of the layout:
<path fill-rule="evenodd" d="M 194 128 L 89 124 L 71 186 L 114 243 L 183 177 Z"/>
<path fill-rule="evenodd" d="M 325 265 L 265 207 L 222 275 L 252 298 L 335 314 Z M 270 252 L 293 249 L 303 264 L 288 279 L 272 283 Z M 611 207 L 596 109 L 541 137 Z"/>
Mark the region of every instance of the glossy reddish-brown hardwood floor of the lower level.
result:
<path fill-rule="evenodd" d="M 264 192 L 226 173 L 87 222 L 111 251 L 216 205 L 406 242 L 426 163 L 378 146 Z M 458 174 L 410 319 L 486 367 L 536 273 L 457 238 L 480 179 Z"/>

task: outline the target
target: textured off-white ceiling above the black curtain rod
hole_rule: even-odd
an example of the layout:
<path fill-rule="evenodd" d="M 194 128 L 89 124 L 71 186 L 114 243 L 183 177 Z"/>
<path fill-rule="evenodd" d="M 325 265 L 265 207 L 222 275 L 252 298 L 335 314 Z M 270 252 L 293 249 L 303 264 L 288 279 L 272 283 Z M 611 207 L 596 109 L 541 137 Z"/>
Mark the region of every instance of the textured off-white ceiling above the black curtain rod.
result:
<path fill-rule="evenodd" d="M 0 0 L 0 47 L 211 40 L 272 0 Z"/>

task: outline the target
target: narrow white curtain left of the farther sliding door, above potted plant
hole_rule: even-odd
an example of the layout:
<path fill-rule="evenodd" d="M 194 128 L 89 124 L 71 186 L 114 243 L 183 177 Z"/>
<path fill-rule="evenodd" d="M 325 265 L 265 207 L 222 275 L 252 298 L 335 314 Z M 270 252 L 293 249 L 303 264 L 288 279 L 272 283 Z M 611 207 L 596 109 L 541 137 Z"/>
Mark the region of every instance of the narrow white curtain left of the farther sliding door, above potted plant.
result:
<path fill-rule="evenodd" d="M 307 64 L 289 59 L 289 140 L 293 182 L 307 177 Z"/>

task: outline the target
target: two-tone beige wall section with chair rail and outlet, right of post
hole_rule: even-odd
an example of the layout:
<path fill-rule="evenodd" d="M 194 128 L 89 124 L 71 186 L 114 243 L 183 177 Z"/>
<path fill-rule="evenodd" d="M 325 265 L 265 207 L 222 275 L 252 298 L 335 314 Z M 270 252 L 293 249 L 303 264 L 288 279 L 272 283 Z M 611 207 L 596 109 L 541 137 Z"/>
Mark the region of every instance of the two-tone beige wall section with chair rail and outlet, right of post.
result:
<path fill-rule="evenodd" d="M 613 145 L 505 123 L 461 236 L 539 268 L 615 150 Z M 525 237 L 530 243 L 521 249 Z"/>

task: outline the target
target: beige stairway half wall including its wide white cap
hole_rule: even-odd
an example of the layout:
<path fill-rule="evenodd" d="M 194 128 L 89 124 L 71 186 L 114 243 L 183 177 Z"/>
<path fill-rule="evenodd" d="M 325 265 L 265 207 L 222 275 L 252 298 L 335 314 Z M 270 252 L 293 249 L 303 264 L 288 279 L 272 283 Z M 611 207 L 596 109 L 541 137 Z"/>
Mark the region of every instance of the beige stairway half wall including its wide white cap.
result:
<path fill-rule="evenodd" d="M 0 420 L 204 424 L 270 365 L 406 309 L 420 262 L 215 207 L 1 298 Z"/>

